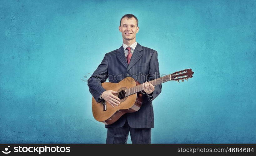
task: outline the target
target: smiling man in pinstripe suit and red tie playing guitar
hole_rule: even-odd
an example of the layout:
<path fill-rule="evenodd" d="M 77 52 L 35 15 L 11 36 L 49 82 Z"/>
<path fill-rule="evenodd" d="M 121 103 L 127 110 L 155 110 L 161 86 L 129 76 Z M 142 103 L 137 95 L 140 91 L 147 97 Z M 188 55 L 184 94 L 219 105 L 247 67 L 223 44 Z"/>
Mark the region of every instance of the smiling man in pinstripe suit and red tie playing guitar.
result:
<path fill-rule="evenodd" d="M 103 99 L 112 107 L 118 107 L 120 99 L 113 95 L 113 90 L 105 90 L 101 83 L 109 75 L 109 82 L 118 83 L 127 76 L 143 84 L 143 104 L 134 113 L 126 113 L 115 123 L 105 125 L 107 144 L 126 144 L 131 134 L 133 144 L 150 144 L 151 128 L 154 127 L 152 101 L 161 93 L 162 85 L 153 86 L 148 81 L 160 77 L 157 51 L 141 46 L 136 42 L 139 32 L 138 19 L 133 14 L 126 14 L 120 20 L 119 31 L 122 33 L 123 45 L 105 54 L 103 61 L 88 79 L 90 93 L 97 102 Z M 120 74 L 123 76 L 120 78 Z M 119 75 L 119 79 L 113 76 Z M 143 77 L 144 76 L 144 77 Z M 158 105 L 160 106 L 160 105 Z"/>

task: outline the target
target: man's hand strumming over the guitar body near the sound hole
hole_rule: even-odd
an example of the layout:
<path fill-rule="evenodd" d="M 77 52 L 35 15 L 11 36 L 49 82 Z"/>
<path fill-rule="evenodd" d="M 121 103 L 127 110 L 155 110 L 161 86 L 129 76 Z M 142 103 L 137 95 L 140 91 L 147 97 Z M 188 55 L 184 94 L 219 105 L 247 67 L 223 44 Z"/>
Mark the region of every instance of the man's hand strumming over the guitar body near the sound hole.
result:
<path fill-rule="evenodd" d="M 108 102 L 112 107 L 115 107 L 114 105 L 118 106 L 120 104 L 119 101 L 121 101 L 117 96 L 113 95 L 113 93 L 118 93 L 117 91 L 113 90 L 106 90 L 102 93 L 101 97 Z"/>

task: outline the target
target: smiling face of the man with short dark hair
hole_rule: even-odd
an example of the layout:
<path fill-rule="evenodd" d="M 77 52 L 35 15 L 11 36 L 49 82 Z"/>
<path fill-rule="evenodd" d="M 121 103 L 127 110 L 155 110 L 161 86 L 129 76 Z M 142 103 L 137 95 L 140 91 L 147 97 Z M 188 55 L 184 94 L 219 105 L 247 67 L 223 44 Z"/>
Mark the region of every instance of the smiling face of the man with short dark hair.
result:
<path fill-rule="evenodd" d="M 123 39 L 133 40 L 136 37 L 136 33 L 139 32 L 136 19 L 134 17 L 124 17 L 121 21 L 121 27 L 119 26 L 119 31 L 122 32 Z"/>

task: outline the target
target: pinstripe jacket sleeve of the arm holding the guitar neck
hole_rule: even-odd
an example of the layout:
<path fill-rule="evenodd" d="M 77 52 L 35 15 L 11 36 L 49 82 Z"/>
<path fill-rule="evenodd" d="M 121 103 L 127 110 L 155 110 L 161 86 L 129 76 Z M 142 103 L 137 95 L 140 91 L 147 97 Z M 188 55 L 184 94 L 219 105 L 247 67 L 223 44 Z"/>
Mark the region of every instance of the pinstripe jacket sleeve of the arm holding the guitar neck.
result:
<path fill-rule="evenodd" d="M 157 51 L 154 51 L 149 63 L 148 81 L 158 79 L 160 77 L 159 64 L 157 58 Z M 150 94 L 153 96 L 147 96 L 148 101 L 154 100 L 162 91 L 162 84 L 156 85 L 155 90 Z"/>

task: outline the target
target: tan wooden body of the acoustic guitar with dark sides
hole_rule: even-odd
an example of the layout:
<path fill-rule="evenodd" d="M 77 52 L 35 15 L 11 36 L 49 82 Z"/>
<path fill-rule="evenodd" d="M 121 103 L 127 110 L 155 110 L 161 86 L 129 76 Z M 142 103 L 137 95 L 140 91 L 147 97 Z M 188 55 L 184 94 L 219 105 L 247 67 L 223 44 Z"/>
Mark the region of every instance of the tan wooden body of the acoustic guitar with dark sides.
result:
<path fill-rule="evenodd" d="M 105 90 L 118 91 L 115 96 L 120 94 L 125 94 L 123 90 L 140 85 L 139 82 L 135 81 L 132 77 L 127 77 L 118 83 L 104 82 L 101 84 Z M 94 98 L 92 98 L 92 109 L 93 117 L 104 124 L 113 124 L 125 113 L 133 113 L 140 109 L 143 102 L 143 94 L 141 92 L 120 98 L 120 104 L 118 106 L 112 107 L 106 101 L 106 110 L 103 111 L 103 100 L 97 103 Z"/>

